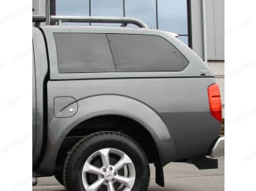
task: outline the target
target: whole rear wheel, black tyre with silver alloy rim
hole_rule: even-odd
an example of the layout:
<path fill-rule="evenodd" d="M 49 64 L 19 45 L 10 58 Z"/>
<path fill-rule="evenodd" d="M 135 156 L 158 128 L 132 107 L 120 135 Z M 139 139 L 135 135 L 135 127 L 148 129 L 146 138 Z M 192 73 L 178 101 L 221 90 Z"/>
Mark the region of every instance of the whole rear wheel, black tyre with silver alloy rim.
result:
<path fill-rule="evenodd" d="M 150 167 L 143 149 L 128 136 L 98 132 L 81 139 L 65 159 L 69 191 L 146 191 Z"/>

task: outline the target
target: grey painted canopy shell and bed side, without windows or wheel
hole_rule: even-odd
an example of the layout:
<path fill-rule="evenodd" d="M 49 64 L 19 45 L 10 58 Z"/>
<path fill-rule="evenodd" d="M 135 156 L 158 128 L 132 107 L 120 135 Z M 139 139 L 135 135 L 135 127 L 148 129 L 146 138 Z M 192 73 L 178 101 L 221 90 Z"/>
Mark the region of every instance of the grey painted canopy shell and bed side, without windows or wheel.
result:
<path fill-rule="evenodd" d="M 72 128 L 102 115 L 126 116 L 142 124 L 154 138 L 162 165 L 210 152 L 219 133 L 219 122 L 210 114 L 207 94 L 207 87 L 215 80 L 206 64 L 182 42 L 163 31 L 142 28 L 46 26 L 42 29 L 49 53 L 50 79 L 45 90 L 46 148 L 38 174 L 53 174 L 58 149 Z M 176 46 L 189 64 L 181 72 L 60 74 L 54 32 L 159 35 Z M 54 102 L 57 98 L 58 103 Z M 67 116 L 70 108 L 76 113 Z"/>

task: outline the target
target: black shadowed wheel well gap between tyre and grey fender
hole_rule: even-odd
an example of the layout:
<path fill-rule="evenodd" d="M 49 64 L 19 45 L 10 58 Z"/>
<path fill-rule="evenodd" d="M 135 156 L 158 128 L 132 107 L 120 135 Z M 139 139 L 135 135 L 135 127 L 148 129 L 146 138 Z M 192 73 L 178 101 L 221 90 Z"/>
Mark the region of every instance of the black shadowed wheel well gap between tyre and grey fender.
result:
<path fill-rule="evenodd" d="M 72 130 L 69 131 L 69 134 L 63 139 L 58 151 L 58 156 L 61 153 L 61 149 L 67 148 L 69 150 L 72 147 L 73 142 L 76 142 L 78 139 L 85 137 L 88 134 L 94 134 L 95 132 L 105 130 L 120 132 L 135 140 L 146 152 L 151 163 L 154 163 L 154 159 L 161 160 L 161 153 L 158 150 L 157 143 L 147 128 L 143 127 L 143 125 L 135 119 L 121 115 L 94 116 L 77 124 L 76 127 L 73 127 Z M 141 139 L 142 136 L 143 139 Z M 147 146 L 151 148 L 151 152 Z M 154 156 L 157 158 L 154 158 Z"/>

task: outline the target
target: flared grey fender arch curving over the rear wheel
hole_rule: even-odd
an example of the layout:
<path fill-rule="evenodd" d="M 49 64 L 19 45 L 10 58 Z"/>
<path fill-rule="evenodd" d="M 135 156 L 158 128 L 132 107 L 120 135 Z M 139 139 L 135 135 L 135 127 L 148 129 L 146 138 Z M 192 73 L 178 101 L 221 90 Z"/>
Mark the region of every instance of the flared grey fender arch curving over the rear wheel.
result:
<path fill-rule="evenodd" d="M 172 135 L 153 108 L 132 97 L 121 95 L 97 95 L 77 100 L 78 111 L 71 118 L 52 117 L 48 121 L 46 154 L 39 166 L 39 174 L 52 175 L 59 149 L 65 138 L 87 120 L 99 116 L 119 116 L 139 123 L 153 138 L 158 149 L 159 164 L 165 166 L 176 157 Z M 73 130 L 73 131 L 72 131 Z"/>

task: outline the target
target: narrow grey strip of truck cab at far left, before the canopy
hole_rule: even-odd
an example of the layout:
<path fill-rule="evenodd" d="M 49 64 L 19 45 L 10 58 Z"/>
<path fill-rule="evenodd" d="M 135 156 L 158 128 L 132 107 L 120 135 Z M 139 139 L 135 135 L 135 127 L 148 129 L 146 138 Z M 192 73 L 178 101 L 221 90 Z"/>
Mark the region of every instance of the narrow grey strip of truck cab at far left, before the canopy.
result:
<path fill-rule="evenodd" d="M 42 32 L 33 28 L 33 168 L 43 146 L 43 127 L 46 126 L 44 104 L 46 102 L 46 75 L 48 61 Z M 35 80 L 36 79 L 36 80 Z M 34 138 L 35 137 L 35 138 Z"/>

